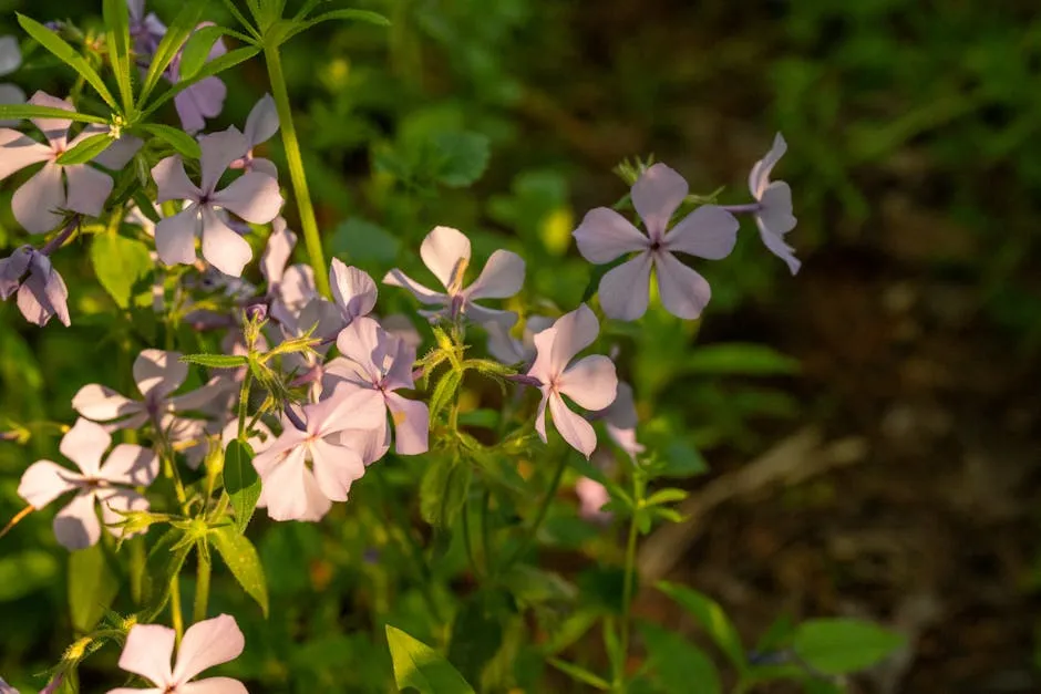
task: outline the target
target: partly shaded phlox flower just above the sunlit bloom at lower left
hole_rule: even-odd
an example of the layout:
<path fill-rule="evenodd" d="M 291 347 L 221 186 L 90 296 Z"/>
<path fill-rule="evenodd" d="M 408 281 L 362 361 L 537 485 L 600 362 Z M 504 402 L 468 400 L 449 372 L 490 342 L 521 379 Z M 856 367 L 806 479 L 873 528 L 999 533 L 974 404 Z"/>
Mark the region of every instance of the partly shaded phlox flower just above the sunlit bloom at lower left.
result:
<path fill-rule="evenodd" d="M 131 400 L 107 386 L 91 383 L 73 396 L 72 408 L 87 419 L 107 423 L 112 431 L 138 428 L 151 421 L 156 428 L 176 435 L 188 422 L 176 417 L 177 413 L 209 406 L 225 395 L 228 387 L 218 377 L 189 393 L 173 395 L 188 377 L 188 365 L 179 360 L 179 352 L 144 350 L 133 366 L 142 400 Z"/>

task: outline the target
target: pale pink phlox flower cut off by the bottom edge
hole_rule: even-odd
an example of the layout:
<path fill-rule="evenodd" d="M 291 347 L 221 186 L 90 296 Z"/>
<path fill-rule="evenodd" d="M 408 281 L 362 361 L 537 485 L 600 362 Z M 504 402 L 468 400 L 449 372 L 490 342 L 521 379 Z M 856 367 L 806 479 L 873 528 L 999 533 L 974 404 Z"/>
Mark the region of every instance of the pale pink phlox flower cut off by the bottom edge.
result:
<path fill-rule="evenodd" d="M 141 675 L 155 686 L 147 690 L 118 687 L 109 694 L 248 694 L 246 686 L 230 677 L 207 677 L 189 682 L 215 665 L 241 655 L 246 638 L 230 614 L 196 622 L 184 632 L 173 669 L 176 634 L 159 624 L 134 624 L 126 634 L 120 667 Z"/>

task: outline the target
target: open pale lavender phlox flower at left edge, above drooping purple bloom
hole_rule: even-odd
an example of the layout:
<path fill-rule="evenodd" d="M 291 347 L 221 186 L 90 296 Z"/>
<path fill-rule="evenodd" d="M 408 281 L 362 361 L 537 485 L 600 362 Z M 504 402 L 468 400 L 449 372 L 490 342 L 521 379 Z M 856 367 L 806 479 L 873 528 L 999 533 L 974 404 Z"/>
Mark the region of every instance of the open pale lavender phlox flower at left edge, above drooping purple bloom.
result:
<path fill-rule="evenodd" d="M 33 94 L 29 103 L 72 111 L 72 104 L 43 92 Z M 43 167 L 16 190 L 11 198 L 14 219 L 30 234 L 50 231 L 62 222 L 60 210 L 72 210 L 97 217 L 112 193 L 112 178 L 87 164 L 58 164 L 66 149 L 97 134 L 86 128 L 69 141 L 72 121 L 65 118 L 31 118 L 43 132 L 45 143 L 38 143 L 16 130 L 0 128 L 0 180 L 27 166 Z"/>

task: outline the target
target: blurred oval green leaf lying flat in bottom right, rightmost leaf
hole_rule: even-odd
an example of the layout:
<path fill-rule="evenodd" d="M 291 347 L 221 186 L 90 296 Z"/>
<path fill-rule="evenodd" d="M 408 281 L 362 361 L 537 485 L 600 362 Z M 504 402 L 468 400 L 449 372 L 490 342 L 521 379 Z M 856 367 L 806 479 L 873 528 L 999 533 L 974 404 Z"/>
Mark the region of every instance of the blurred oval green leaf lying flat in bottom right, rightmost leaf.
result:
<path fill-rule="evenodd" d="M 834 618 L 803 622 L 792 646 L 811 667 L 841 675 L 870 667 L 905 643 L 900 634 L 872 622 Z"/>

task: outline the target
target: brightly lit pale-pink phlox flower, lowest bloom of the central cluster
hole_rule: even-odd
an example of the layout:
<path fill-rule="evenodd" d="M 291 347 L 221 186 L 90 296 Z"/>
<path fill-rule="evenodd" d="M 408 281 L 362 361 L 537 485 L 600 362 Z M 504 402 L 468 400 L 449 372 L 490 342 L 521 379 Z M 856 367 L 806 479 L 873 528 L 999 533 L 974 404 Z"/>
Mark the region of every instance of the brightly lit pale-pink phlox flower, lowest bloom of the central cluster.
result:
<path fill-rule="evenodd" d="M 385 419 L 377 393 L 346 384 L 302 410 L 305 428 L 287 417 L 281 435 L 254 458 L 264 485 L 259 503 L 275 520 L 319 520 L 333 501 L 346 501 L 365 465 L 337 434 L 349 427 L 372 429 Z"/>

